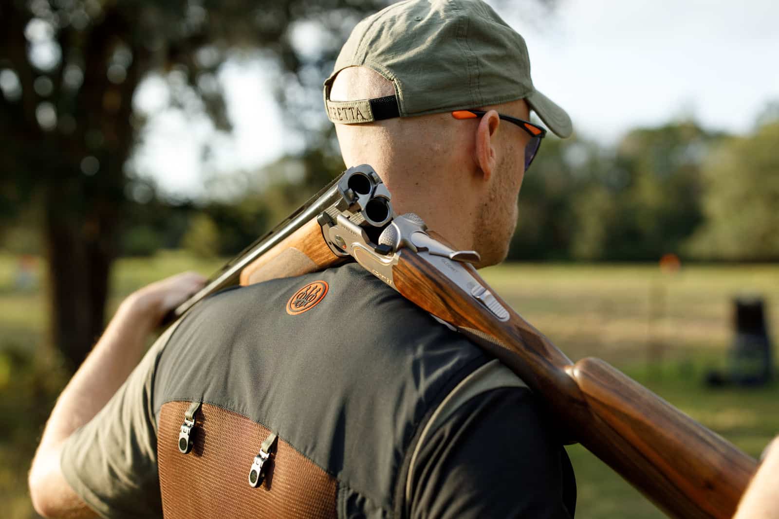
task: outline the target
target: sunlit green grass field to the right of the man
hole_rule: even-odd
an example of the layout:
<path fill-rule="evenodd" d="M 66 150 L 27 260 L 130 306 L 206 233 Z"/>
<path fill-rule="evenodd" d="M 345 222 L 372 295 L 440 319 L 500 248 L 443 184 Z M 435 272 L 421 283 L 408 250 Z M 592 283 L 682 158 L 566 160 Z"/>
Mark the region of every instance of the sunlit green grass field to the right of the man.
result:
<path fill-rule="evenodd" d="M 747 453 L 759 456 L 779 432 L 779 384 L 703 384 L 707 370 L 724 368 L 734 296 L 765 297 L 769 331 L 779 329 L 770 304 L 779 302 L 779 267 L 694 266 L 668 275 L 655 265 L 506 265 L 484 275 L 571 359 L 607 360 Z M 664 517 L 583 447 L 568 452 L 576 517 Z"/>

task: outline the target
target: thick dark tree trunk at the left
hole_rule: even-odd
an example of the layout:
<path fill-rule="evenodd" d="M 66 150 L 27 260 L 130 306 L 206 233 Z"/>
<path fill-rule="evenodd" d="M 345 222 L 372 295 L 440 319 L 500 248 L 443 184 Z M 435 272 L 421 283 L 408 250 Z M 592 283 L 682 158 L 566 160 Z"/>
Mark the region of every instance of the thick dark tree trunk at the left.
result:
<path fill-rule="evenodd" d="M 72 100 L 77 130 L 71 137 L 52 132 L 48 163 L 44 236 L 48 245 L 51 344 L 76 369 L 100 338 L 118 226 L 125 202 L 122 170 L 132 148 L 132 94 L 145 52 L 132 47 L 132 63 L 119 84 L 108 80 L 117 44 L 132 44 L 131 24 L 120 9 L 107 9 L 83 46 L 83 85 Z M 88 139 L 98 135 L 99 142 Z M 97 161 L 83 171 L 82 161 Z"/>

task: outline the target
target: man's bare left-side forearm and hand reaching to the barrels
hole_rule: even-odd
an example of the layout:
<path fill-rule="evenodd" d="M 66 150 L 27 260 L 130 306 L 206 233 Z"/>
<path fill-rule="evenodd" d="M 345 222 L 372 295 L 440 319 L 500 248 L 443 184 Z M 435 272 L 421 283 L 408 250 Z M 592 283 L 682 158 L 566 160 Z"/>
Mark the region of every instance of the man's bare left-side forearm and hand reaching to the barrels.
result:
<path fill-rule="evenodd" d="M 90 355 L 62 391 L 30 468 L 30 497 L 44 517 L 94 517 L 73 492 L 60 467 L 65 440 L 103 409 L 135 368 L 146 338 L 165 314 L 203 287 L 203 276 L 186 272 L 132 293 L 117 310 Z"/>

